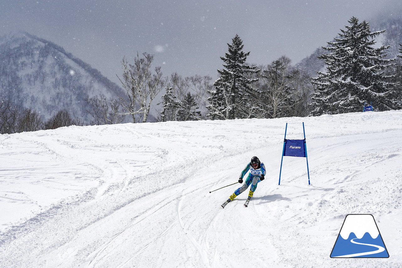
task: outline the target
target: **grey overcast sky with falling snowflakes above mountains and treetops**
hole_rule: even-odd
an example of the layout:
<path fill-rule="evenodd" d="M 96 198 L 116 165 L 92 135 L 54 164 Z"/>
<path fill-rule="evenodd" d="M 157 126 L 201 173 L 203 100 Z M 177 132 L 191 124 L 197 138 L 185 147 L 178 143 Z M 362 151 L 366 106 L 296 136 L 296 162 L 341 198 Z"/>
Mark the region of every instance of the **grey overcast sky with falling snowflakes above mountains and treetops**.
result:
<path fill-rule="evenodd" d="M 293 64 L 345 29 L 402 10 L 401 0 L 2 0 L 0 35 L 48 39 L 118 82 L 121 59 L 155 54 L 164 75 L 210 75 L 236 33 L 248 62 Z"/>

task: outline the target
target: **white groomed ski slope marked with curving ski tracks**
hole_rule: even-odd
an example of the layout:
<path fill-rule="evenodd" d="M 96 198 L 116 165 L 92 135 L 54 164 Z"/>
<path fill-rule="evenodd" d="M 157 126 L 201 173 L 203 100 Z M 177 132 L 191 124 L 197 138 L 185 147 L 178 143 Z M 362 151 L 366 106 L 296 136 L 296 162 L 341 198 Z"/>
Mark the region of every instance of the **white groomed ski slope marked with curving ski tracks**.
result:
<path fill-rule="evenodd" d="M 302 122 L 312 185 L 292 157 L 278 185 Z M 0 267 L 402 267 L 401 147 L 402 110 L 0 135 Z M 253 155 L 266 180 L 222 209 Z M 330 258 L 351 213 L 390 258 Z"/>

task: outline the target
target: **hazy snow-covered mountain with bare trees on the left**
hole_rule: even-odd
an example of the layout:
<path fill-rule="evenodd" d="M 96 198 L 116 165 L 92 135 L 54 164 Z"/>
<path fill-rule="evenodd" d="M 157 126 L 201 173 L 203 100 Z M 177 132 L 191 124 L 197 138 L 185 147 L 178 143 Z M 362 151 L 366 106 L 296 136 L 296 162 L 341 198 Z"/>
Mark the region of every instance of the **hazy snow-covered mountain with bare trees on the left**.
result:
<path fill-rule="evenodd" d="M 0 116 L 4 116 L 0 123 L 11 125 L 10 118 L 18 120 L 25 115 L 25 109 L 43 120 L 65 110 L 83 123 L 92 120 L 87 111 L 88 98 L 125 94 L 88 63 L 29 33 L 0 37 L 0 52 Z M 6 127 L 1 133 L 13 131 Z"/>

